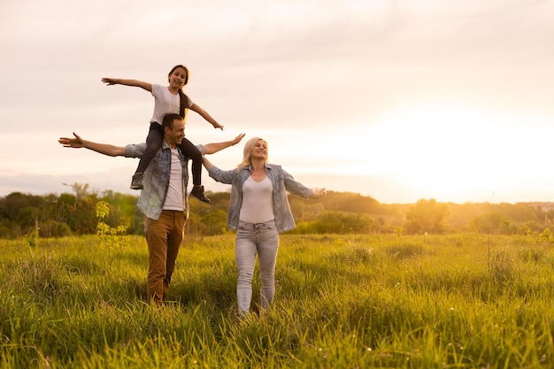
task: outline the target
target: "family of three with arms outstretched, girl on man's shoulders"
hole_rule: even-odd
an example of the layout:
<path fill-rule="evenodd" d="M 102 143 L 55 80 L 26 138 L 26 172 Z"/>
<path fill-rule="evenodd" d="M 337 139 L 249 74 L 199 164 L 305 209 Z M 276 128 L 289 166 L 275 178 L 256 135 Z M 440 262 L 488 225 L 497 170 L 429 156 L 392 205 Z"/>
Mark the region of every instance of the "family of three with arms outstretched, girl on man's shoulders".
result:
<path fill-rule="evenodd" d="M 287 192 L 304 199 L 317 199 L 325 188 L 306 188 L 281 168 L 267 162 L 267 142 L 253 137 L 244 145 L 242 161 L 231 170 L 219 169 L 204 157 L 242 141 L 244 134 L 233 140 L 194 145 L 185 138 L 186 111 L 196 111 L 214 128 L 223 126 L 204 109 L 192 102 L 182 88 L 189 81 L 189 70 L 176 65 L 168 74 L 169 86 L 136 80 L 102 79 L 108 85 L 140 87 L 155 98 L 154 113 L 146 142 L 114 146 L 74 137 L 61 137 L 58 142 L 67 148 L 86 148 L 104 155 L 140 158 L 131 188 L 141 189 L 137 209 L 144 215 L 144 234 L 149 249 L 147 298 L 162 304 L 175 269 L 184 227 L 189 218 L 189 160 L 192 161 L 193 187 L 190 192 L 204 203 L 201 182 L 202 165 L 213 180 L 231 185 L 227 227 L 235 235 L 235 263 L 238 277 L 236 298 L 241 316 L 250 314 L 252 279 L 258 256 L 261 285 L 260 307 L 267 309 L 275 294 L 275 262 L 279 234 L 295 227 Z"/>

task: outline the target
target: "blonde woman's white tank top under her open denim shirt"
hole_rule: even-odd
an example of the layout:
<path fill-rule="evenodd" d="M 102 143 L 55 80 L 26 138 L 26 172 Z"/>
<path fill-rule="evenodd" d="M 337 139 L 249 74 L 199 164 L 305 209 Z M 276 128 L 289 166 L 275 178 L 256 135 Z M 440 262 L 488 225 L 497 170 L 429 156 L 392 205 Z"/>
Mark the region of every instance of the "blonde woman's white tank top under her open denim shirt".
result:
<path fill-rule="evenodd" d="M 254 181 L 252 177 L 242 185 L 242 206 L 239 220 L 246 223 L 265 223 L 273 220 L 273 185 L 268 177 Z"/>

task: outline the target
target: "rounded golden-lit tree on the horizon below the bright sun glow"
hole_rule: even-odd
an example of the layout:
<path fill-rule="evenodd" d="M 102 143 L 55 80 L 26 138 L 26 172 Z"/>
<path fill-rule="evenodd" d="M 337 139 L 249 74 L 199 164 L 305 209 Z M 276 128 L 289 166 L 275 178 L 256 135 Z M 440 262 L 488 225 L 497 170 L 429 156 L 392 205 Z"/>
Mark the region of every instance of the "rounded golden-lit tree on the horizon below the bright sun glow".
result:
<path fill-rule="evenodd" d="M 446 204 L 438 204 L 434 198 L 420 199 L 408 210 L 404 229 L 411 234 L 439 234 L 444 231 L 447 215 Z"/>

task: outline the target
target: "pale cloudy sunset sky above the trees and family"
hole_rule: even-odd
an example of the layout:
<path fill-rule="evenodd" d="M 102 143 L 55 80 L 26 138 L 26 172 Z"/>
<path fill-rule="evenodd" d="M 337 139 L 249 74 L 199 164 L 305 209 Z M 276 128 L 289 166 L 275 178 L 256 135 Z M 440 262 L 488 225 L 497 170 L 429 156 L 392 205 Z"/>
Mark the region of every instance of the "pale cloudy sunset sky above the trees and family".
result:
<path fill-rule="evenodd" d="M 195 143 L 245 133 L 307 187 L 381 204 L 554 200 L 554 1 L 2 0 L 0 197 L 128 188 L 137 159 L 59 137 L 143 142 L 166 84 Z M 234 168 L 242 143 L 211 156 Z M 226 191 L 204 171 L 207 190 Z"/>

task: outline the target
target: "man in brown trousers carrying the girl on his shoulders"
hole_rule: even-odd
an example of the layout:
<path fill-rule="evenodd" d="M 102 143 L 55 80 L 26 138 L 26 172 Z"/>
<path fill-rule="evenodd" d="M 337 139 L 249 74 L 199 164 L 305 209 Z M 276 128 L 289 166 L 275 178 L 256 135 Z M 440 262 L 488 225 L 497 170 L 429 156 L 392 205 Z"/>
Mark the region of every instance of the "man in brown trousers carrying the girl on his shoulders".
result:
<path fill-rule="evenodd" d="M 162 127 L 164 142 L 143 175 L 143 186 L 137 208 L 144 214 L 144 234 L 149 250 L 146 295 L 149 301 L 161 303 L 167 297 L 175 269 L 183 230 L 189 216 L 187 185 L 189 158 L 183 156 L 179 145 L 185 136 L 185 124 L 179 114 L 166 114 Z M 59 143 L 68 148 L 86 148 L 104 155 L 140 158 L 146 143 L 126 147 L 113 146 L 75 138 L 62 137 Z M 205 154 L 212 154 L 241 142 L 244 134 L 234 140 L 198 145 Z"/>

